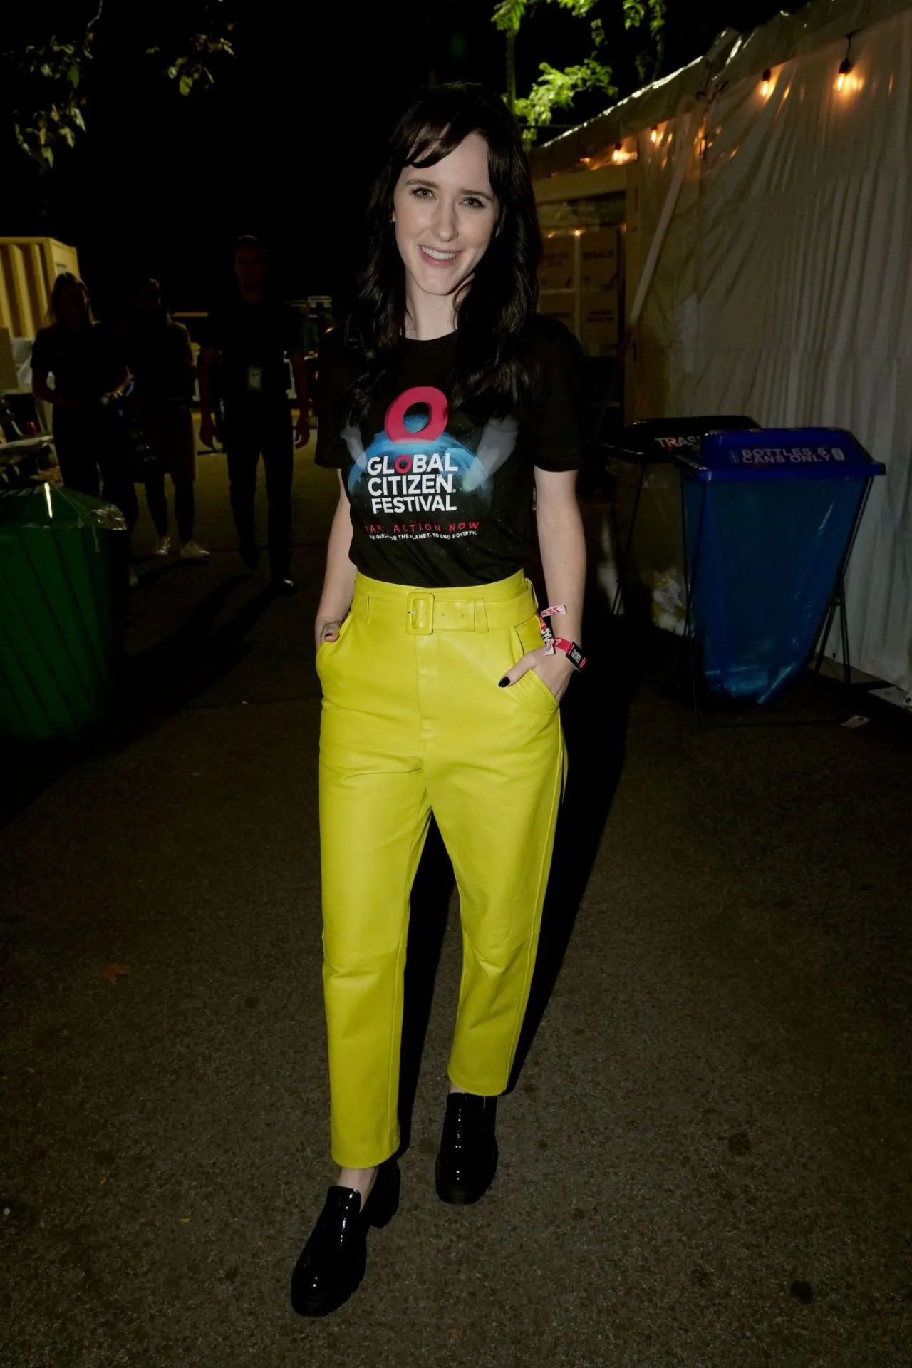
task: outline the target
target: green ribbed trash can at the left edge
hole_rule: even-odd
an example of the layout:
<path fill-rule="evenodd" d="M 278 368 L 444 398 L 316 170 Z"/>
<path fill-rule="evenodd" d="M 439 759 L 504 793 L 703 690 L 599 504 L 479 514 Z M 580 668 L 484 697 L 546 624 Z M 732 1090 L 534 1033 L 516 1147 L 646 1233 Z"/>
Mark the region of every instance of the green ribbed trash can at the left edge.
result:
<path fill-rule="evenodd" d="M 105 717 L 127 558 L 112 503 L 51 484 L 0 494 L 0 740 L 70 740 Z"/>

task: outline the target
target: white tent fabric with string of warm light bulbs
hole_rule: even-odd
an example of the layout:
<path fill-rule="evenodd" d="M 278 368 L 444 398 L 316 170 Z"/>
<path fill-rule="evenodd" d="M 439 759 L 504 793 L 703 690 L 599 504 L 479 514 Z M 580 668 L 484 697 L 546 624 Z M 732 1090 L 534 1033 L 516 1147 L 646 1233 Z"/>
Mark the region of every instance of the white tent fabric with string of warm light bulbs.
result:
<path fill-rule="evenodd" d="M 696 92 L 707 90 L 706 141 L 690 149 L 630 358 L 628 417 L 725 412 L 846 427 L 882 460 L 849 566 L 849 642 L 853 665 L 908 692 L 912 8 L 814 0 L 721 47 L 536 152 L 536 171 L 636 137 L 648 242 Z"/>

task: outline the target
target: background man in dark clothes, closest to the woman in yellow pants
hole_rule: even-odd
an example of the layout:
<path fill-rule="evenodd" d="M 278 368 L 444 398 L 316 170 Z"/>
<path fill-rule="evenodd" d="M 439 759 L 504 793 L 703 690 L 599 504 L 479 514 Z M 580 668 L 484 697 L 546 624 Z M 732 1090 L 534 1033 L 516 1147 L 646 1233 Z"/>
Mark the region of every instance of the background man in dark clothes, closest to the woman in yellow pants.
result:
<path fill-rule="evenodd" d="M 271 291 L 269 257 L 257 238 L 238 238 L 234 253 L 238 298 L 212 315 L 200 354 L 200 439 L 215 439 L 213 378 L 219 368 L 222 439 L 228 460 L 231 512 L 241 558 L 249 570 L 260 562 L 254 498 L 263 454 L 269 501 L 269 568 L 276 592 L 290 594 L 291 482 L 294 447 L 310 435 L 308 378 L 301 315 Z M 286 357 L 291 363 L 299 408 L 291 431 Z"/>

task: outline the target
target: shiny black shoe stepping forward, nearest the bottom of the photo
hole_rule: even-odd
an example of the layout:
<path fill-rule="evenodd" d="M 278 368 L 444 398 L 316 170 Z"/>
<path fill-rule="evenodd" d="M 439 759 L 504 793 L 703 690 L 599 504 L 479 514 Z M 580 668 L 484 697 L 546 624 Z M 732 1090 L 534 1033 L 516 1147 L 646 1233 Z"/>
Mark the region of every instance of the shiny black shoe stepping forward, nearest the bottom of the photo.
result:
<path fill-rule="evenodd" d="M 364 1211 L 353 1187 L 334 1186 L 294 1272 L 291 1305 L 299 1316 L 328 1316 L 358 1290 L 368 1259 L 368 1230 L 386 1226 L 399 1207 L 399 1166 L 380 1164 Z"/>

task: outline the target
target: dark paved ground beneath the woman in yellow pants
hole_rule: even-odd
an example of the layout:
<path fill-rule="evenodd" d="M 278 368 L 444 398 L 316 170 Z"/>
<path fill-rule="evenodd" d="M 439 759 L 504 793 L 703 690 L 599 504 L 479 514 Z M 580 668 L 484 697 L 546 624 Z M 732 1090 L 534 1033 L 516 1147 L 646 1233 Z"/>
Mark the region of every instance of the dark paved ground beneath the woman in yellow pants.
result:
<path fill-rule="evenodd" d="M 272 602 L 204 457 L 213 560 L 141 566 L 126 718 L 7 777 L 0 1364 L 905 1368 L 908 720 L 697 732 L 658 668 L 628 710 L 630 647 L 593 625 L 496 1183 L 466 1211 L 433 1194 L 458 943 L 432 852 L 403 1205 L 349 1306 L 291 1313 L 331 1179 L 310 620 L 332 499 L 302 456 L 302 588 Z M 838 714 L 820 685 L 790 706 Z"/>

